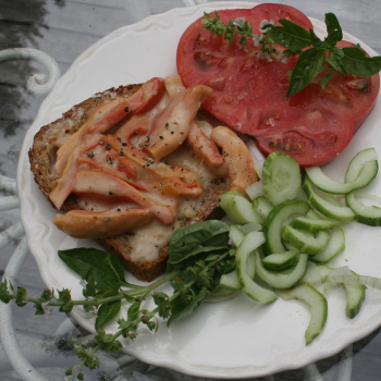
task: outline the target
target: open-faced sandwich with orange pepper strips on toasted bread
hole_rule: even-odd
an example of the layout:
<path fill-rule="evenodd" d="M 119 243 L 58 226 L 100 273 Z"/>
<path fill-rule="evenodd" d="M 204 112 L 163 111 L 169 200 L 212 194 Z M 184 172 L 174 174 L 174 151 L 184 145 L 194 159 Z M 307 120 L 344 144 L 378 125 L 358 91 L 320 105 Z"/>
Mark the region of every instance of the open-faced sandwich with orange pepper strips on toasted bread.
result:
<path fill-rule="evenodd" d="M 241 138 L 197 119 L 210 94 L 175 75 L 152 78 L 97 94 L 44 126 L 29 160 L 40 189 L 66 211 L 56 225 L 95 238 L 140 280 L 164 272 L 174 231 L 220 217 L 221 195 L 257 179 Z"/>

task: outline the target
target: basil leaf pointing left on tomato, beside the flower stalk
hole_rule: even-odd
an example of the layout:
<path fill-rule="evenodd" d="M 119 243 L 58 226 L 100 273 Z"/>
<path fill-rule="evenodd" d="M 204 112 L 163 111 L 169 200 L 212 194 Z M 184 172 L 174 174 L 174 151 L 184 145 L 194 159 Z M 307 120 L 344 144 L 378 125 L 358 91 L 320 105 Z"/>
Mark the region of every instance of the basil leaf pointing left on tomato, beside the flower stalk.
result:
<path fill-rule="evenodd" d="M 286 19 L 279 22 L 283 26 L 273 26 L 267 32 L 275 44 L 290 50 L 300 50 L 311 45 L 308 30 Z"/>

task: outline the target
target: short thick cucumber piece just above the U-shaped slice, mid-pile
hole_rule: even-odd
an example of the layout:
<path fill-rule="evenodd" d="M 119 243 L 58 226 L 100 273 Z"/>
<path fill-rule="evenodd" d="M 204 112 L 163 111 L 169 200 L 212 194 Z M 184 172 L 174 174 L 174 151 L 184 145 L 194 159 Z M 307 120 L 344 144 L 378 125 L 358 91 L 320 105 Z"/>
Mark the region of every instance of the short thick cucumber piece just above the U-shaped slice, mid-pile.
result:
<path fill-rule="evenodd" d="M 298 250 L 309 255 L 320 253 L 330 241 L 328 232 L 320 231 L 315 236 L 312 233 L 296 230 L 291 225 L 285 225 L 281 231 L 281 235 L 283 239 L 290 242 Z"/>

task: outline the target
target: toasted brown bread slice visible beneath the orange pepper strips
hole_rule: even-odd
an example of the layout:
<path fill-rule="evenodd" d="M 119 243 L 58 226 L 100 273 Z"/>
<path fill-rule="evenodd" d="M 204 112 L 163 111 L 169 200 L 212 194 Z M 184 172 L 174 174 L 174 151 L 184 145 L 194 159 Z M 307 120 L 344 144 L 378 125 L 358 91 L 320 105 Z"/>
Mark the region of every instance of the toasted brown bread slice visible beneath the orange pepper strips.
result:
<path fill-rule="evenodd" d="M 121 86 L 99 93 L 82 103 L 74 106 L 61 119 L 42 126 L 36 134 L 34 145 L 29 149 L 30 169 L 35 175 L 36 183 L 48 199 L 54 180 L 52 170 L 56 152 L 59 147 L 84 124 L 99 105 L 119 97 L 128 97 L 137 91 L 140 86 Z M 197 165 L 199 165 L 199 161 Z M 193 204 L 188 204 L 186 210 L 184 208 L 179 213 L 175 224 L 160 226 L 158 235 L 160 235 L 161 239 L 159 241 L 160 243 L 165 241 L 164 245 L 158 245 L 157 241 L 151 241 L 152 232 L 157 229 L 156 224 L 153 224 L 153 228 L 143 226 L 136 231 L 111 238 L 97 239 L 97 242 L 106 250 L 118 256 L 125 269 L 137 279 L 151 281 L 165 271 L 168 242 L 175 229 L 207 219 L 222 217 L 218 201 L 221 195 L 228 190 L 228 182 L 223 180 L 211 180 L 204 185 L 204 193 L 200 198 L 197 201 L 192 201 Z M 64 211 L 72 209 L 81 209 L 81 202 L 75 195 L 71 195 L 62 207 Z M 142 237 L 146 237 L 146 239 Z M 143 246 L 142 243 L 144 243 Z M 139 245 L 142 249 L 139 249 Z M 149 255 L 147 255 L 147 250 L 150 251 Z"/>

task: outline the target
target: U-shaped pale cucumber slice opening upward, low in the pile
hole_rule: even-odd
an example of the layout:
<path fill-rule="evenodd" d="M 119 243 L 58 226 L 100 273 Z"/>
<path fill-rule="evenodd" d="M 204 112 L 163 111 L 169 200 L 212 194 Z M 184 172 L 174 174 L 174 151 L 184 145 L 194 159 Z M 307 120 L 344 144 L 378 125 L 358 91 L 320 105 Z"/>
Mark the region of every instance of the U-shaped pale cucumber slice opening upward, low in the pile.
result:
<path fill-rule="evenodd" d="M 259 255 L 256 256 L 256 274 L 274 288 L 290 288 L 304 276 L 307 269 L 308 255 L 298 254 L 296 266 L 291 271 L 271 272 L 265 269 Z"/>

